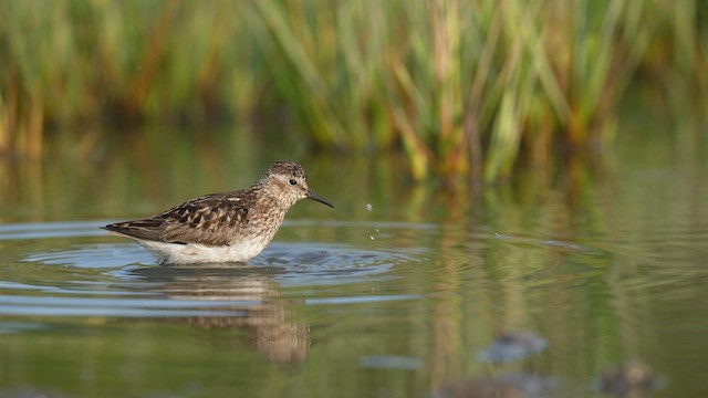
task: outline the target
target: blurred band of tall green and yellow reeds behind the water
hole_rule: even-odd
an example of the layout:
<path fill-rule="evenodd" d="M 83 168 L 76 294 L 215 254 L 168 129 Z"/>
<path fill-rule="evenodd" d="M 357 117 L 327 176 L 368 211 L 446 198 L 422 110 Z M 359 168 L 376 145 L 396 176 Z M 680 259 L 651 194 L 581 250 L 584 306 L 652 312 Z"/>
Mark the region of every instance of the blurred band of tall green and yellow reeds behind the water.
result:
<path fill-rule="evenodd" d="M 706 12 L 695 0 L 0 0 L 0 153 L 40 154 L 48 127 L 277 123 L 317 148 L 400 148 L 416 179 L 494 180 L 522 157 L 606 145 L 629 88 L 677 119 L 705 115 Z"/>

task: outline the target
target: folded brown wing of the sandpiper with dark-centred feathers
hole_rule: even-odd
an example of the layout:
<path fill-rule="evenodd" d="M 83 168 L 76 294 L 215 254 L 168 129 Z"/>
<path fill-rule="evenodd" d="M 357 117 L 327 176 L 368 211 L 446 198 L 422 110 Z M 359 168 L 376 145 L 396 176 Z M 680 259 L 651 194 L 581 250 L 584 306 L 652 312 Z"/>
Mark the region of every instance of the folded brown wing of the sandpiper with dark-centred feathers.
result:
<path fill-rule="evenodd" d="M 132 238 L 168 243 L 225 245 L 248 222 L 243 197 L 207 195 L 159 216 L 104 227 Z"/>

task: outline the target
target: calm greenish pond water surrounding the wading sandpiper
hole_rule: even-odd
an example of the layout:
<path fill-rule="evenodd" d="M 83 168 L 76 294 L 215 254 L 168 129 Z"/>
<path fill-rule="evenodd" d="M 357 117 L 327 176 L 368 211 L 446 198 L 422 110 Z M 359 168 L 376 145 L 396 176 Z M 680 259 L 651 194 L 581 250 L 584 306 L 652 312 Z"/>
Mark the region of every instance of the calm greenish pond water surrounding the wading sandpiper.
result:
<path fill-rule="evenodd" d="M 600 160 L 480 192 L 228 130 L 6 160 L 0 397 L 429 397 L 509 377 L 592 397 L 631 359 L 660 376 L 653 396 L 704 397 L 708 148 L 666 137 L 705 133 L 626 129 Z M 336 208 L 300 202 L 249 265 L 157 266 L 98 229 L 246 187 L 280 158 Z M 482 360 L 518 331 L 546 348 Z"/>

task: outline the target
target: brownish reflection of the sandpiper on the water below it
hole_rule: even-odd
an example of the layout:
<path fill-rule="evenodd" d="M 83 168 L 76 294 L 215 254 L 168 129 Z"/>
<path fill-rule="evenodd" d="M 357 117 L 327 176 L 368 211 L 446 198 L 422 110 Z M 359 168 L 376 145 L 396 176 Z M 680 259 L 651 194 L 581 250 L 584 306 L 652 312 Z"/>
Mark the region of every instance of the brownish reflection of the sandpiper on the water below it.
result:
<path fill-rule="evenodd" d="M 308 357 L 310 336 L 306 325 L 287 322 L 290 302 L 277 300 L 278 284 L 263 269 L 252 268 L 147 268 L 135 271 L 170 298 L 204 300 L 204 310 L 223 311 L 223 306 L 209 306 L 210 302 L 242 302 L 229 306 L 229 315 L 190 316 L 176 318 L 201 328 L 243 332 L 247 344 L 256 347 L 269 360 L 298 363 Z M 238 315 L 232 315 L 237 313 Z"/>

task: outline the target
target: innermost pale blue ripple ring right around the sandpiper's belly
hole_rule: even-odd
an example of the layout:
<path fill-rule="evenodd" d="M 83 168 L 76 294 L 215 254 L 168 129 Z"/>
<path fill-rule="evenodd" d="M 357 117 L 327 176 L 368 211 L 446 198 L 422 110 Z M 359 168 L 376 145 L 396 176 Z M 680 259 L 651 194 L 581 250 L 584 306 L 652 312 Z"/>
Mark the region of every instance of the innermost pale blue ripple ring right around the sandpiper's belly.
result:
<path fill-rule="evenodd" d="M 210 272 L 223 273 L 223 270 L 231 269 L 241 274 L 261 273 L 283 285 L 315 285 L 352 283 L 376 275 L 384 277 L 396 264 L 421 259 L 404 250 L 364 250 L 341 244 L 273 243 L 248 264 L 160 266 L 155 265 L 154 258 L 135 243 L 96 243 L 73 245 L 66 250 L 35 252 L 23 260 L 48 265 L 103 270 L 110 275 L 126 280 L 139 274 L 175 273 L 177 270 L 192 270 L 206 275 Z M 154 270 L 148 271 L 148 268 Z"/>

